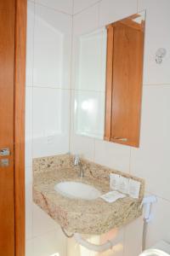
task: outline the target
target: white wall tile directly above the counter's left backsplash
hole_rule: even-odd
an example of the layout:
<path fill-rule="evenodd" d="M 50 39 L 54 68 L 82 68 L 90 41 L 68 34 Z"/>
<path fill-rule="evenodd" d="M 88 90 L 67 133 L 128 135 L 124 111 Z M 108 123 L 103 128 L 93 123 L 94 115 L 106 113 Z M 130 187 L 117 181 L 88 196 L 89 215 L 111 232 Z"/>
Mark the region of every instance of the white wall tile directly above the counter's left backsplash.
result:
<path fill-rule="evenodd" d="M 69 151 L 70 90 L 33 89 L 33 157 Z"/>

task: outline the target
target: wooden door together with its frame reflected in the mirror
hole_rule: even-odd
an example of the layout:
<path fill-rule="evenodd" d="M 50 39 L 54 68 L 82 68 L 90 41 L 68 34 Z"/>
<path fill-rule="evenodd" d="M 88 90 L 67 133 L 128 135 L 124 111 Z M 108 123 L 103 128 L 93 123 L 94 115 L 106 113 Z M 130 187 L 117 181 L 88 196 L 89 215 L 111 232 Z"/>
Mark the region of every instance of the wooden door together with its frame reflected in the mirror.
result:
<path fill-rule="evenodd" d="M 139 147 L 144 20 L 107 26 L 105 140 Z"/>

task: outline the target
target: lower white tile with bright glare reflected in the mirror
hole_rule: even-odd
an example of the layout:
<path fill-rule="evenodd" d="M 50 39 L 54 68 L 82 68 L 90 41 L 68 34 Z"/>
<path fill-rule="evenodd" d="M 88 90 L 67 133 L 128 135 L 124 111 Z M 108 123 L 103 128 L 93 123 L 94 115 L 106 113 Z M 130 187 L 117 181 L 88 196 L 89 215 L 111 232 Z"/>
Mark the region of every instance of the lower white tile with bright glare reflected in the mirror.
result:
<path fill-rule="evenodd" d="M 75 90 L 74 131 L 77 135 L 104 137 L 105 92 Z"/>

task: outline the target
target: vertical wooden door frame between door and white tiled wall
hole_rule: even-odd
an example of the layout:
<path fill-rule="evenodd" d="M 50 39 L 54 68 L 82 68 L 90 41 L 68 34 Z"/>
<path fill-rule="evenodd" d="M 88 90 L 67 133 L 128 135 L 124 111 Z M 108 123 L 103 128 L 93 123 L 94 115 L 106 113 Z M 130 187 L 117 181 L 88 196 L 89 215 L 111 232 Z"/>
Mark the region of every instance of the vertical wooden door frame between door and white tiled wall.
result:
<path fill-rule="evenodd" d="M 25 93 L 27 1 L 16 0 L 14 61 L 15 256 L 25 255 Z"/>

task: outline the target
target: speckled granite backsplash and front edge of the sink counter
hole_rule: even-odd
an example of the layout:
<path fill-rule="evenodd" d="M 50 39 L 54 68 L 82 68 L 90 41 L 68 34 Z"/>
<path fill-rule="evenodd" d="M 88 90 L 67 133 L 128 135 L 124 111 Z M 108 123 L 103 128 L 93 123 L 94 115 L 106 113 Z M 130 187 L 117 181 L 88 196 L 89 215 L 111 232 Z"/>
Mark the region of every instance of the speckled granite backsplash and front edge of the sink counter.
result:
<path fill-rule="evenodd" d="M 116 170 L 113 170 L 111 168 L 108 168 L 106 166 L 100 166 L 94 162 L 91 162 L 89 160 L 81 159 L 82 160 L 82 166 L 84 169 L 84 172 L 87 176 L 94 177 L 96 181 L 103 181 L 105 183 L 109 182 L 109 174 L 110 173 L 119 173 L 120 175 L 124 177 L 130 177 L 134 180 L 137 180 L 141 183 L 141 189 L 139 194 L 139 200 L 135 201 L 133 203 L 133 206 L 131 207 L 131 211 L 129 214 L 125 214 L 125 212 L 122 214 L 122 218 L 117 218 L 114 216 L 114 214 L 111 214 L 110 216 L 97 216 L 96 222 L 94 221 L 94 224 L 91 224 L 91 229 L 89 229 L 88 225 L 88 215 L 78 214 L 78 216 L 74 216 L 74 212 L 65 212 L 63 211 L 62 207 L 59 207 L 59 205 L 55 205 L 52 201 L 49 200 L 49 198 L 46 198 L 45 195 L 41 191 L 38 191 L 38 189 L 33 189 L 33 198 L 34 201 L 37 203 L 39 207 L 42 208 L 45 212 L 48 213 L 48 215 L 51 218 L 54 218 L 54 220 L 60 224 L 62 227 L 65 227 L 66 230 L 70 232 L 79 232 L 84 234 L 102 234 L 105 233 L 112 228 L 120 227 L 123 224 L 127 224 L 131 222 L 133 219 L 138 218 L 142 214 L 142 210 L 140 209 L 139 205 L 142 201 L 142 198 L 144 196 L 144 180 L 139 177 L 133 177 L 132 175 L 129 175 L 124 172 L 119 172 Z M 41 175 L 42 173 L 47 172 L 57 172 L 61 169 L 65 168 L 73 168 L 73 155 L 71 154 L 60 154 L 56 156 L 48 156 L 48 157 L 42 157 L 37 158 L 33 160 L 33 172 L 34 176 Z M 69 199 L 66 199 L 69 201 Z M 126 210 L 128 210 L 129 207 L 127 207 Z M 57 213 L 56 213 L 57 212 Z M 85 217 L 85 218 L 83 218 Z M 91 218 L 92 216 L 90 216 Z M 95 217 L 95 216 L 94 216 Z M 77 218 L 82 219 L 82 224 L 77 226 L 76 222 Z M 89 218 L 89 219 L 90 219 Z M 105 225 L 102 225 L 102 220 L 106 218 L 107 221 L 105 222 Z"/>

